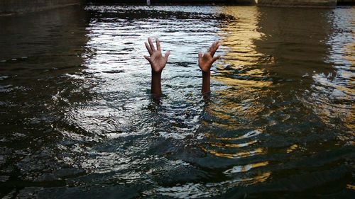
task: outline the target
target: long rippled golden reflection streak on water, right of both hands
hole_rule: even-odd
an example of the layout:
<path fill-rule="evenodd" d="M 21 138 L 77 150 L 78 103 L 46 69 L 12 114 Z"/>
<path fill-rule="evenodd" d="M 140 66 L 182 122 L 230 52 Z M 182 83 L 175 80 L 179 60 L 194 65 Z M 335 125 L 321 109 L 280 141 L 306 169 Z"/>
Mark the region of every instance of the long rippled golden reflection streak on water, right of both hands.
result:
<path fill-rule="evenodd" d="M 265 80 L 267 74 L 263 69 L 254 67 L 256 64 L 265 63 L 265 57 L 267 57 L 258 52 L 254 45 L 254 40 L 259 40 L 263 37 L 263 33 L 258 32 L 258 8 L 255 6 L 226 6 L 221 8 L 221 12 L 232 16 L 233 20 L 223 23 L 219 32 L 221 45 L 227 47 L 228 50 L 226 50 L 227 52 L 221 60 L 222 64 L 217 65 L 217 74 L 212 78 L 222 82 L 227 88 L 215 91 L 222 98 L 219 98 L 219 102 L 211 103 L 205 107 L 205 112 L 212 115 L 216 120 L 204 121 L 202 124 L 217 127 L 222 132 L 231 130 L 231 133 L 229 135 L 219 135 L 218 132 L 206 133 L 205 137 L 208 141 L 201 146 L 201 149 L 212 157 L 226 159 L 263 155 L 268 150 L 257 145 L 257 136 L 263 132 L 261 129 L 250 130 L 243 134 L 236 134 L 237 132 L 235 132 L 235 130 L 244 126 L 241 118 L 254 117 L 263 110 L 263 106 L 258 104 L 258 96 L 246 93 L 265 92 L 261 91 L 261 89 L 272 84 L 272 81 Z M 267 62 L 273 61 L 268 59 Z M 234 92 L 229 89 L 233 87 L 237 87 L 238 91 Z M 242 96 L 249 96 L 249 98 L 243 98 Z M 241 100 L 231 100 L 238 98 Z M 253 168 L 267 166 L 268 164 L 268 161 L 262 161 L 234 166 L 226 170 L 224 174 L 245 172 Z M 233 186 L 234 181 L 236 185 L 241 181 L 244 183 L 258 183 L 266 181 L 270 175 L 271 172 L 268 171 L 253 177 L 239 177 L 229 181 L 229 183 L 231 186 Z"/>

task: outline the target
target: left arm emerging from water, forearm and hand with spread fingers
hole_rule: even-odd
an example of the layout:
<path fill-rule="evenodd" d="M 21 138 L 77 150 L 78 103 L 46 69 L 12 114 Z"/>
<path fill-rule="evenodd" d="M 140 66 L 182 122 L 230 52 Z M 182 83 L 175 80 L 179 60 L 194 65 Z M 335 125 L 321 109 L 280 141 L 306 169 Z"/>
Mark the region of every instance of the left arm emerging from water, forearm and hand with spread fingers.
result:
<path fill-rule="evenodd" d="M 153 95 L 161 95 L 161 72 L 163 72 L 165 64 L 168 62 L 170 52 L 166 52 L 163 57 L 158 38 L 156 39 L 156 49 L 151 38 L 148 38 L 148 42 L 144 42 L 144 44 L 146 45 L 149 55 L 151 55 L 151 57 L 144 55 L 144 58 L 151 64 L 152 69 L 151 93 Z"/>

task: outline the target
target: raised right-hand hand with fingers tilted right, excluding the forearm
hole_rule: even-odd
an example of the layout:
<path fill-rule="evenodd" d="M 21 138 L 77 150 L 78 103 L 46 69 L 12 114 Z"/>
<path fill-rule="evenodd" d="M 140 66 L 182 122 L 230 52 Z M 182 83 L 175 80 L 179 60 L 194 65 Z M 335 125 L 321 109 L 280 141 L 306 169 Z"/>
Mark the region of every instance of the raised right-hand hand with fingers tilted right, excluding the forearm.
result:
<path fill-rule="evenodd" d="M 212 43 L 211 47 L 209 47 L 209 50 L 202 55 L 202 52 L 199 52 L 199 67 L 202 70 L 202 72 L 209 72 L 211 70 L 212 64 L 221 57 L 220 55 L 217 55 L 214 57 L 214 53 L 217 51 L 219 47 L 219 41 L 215 41 Z"/>

